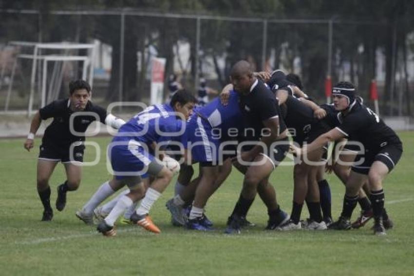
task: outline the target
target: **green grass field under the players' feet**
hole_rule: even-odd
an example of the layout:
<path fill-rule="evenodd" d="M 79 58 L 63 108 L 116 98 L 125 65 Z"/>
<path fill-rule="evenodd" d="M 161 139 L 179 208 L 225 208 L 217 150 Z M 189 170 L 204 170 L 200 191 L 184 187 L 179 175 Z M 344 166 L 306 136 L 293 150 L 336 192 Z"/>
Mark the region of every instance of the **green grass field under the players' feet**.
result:
<path fill-rule="evenodd" d="M 117 237 L 103 237 L 79 221 L 75 211 L 110 177 L 104 161 L 85 167 L 81 187 L 68 194 L 66 209 L 55 210 L 52 222 L 40 222 L 42 207 L 36 192 L 40 140 L 31 153 L 23 150 L 22 139 L 0 140 L 0 275 L 413 275 L 414 133 L 399 135 L 404 154 L 384 188 L 386 207 L 395 222 L 386 237 L 372 235 L 372 222 L 348 232 L 264 231 L 267 215 L 260 199 L 247 217 L 257 226 L 239 236 L 226 236 L 226 219 L 242 183 L 235 170 L 207 205 L 217 230 L 198 233 L 169 224 L 164 204 L 173 194 L 171 183 L 151 210 L 160 235 L 120 226 Z M 105 147 L 110 138 L 89 140 Z M 87 153 L 87 159 L 94 158 L 92 148 Z M 333 215 L 338 217 L 344 188 L 335 176 L 327 179 Z M 52 202 L 63 180 L 59 165 L 50 182 Z M 278 168 L 271 182 L 282 208 L 290 213 L 292 167 Z M 354 218 L 358 211 L 359 207 Z M 302 218 L 307 215 L 304 208 Z"/>

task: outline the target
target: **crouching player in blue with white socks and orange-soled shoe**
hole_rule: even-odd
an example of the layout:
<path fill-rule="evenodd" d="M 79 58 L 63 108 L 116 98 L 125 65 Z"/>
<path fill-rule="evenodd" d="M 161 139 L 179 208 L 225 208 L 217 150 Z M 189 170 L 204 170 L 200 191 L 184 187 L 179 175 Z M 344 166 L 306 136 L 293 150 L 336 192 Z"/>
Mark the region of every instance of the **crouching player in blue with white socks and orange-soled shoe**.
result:
<path fill-rule="evenodd" d="M 118 200 L 110 214 L 98 224 L 97 230 L 105 236 L 115 236 L 116 219 L 145 195 L 131 220 L 151 232 L 159 233 L 148 213 L 168 186 L 172 172 L 160 161 L 162 152 L 154 153 L 154 146 L 166 143 L 172 136 L 185 131 L 185 120 L 191 116 L 195 103 L 191 93 L 179 90 L 169 104 L 151 105 L 124 124 L 108 148 L 113 179 L 103 183 L 82 210 L 76 212 L 76 216 L 85 223 L 92 223 L 94 209 L 117 190 L 128 186 L 130 192 Z M 142 178 L 148 175 L 155 179 L 146 190 Z"/>

